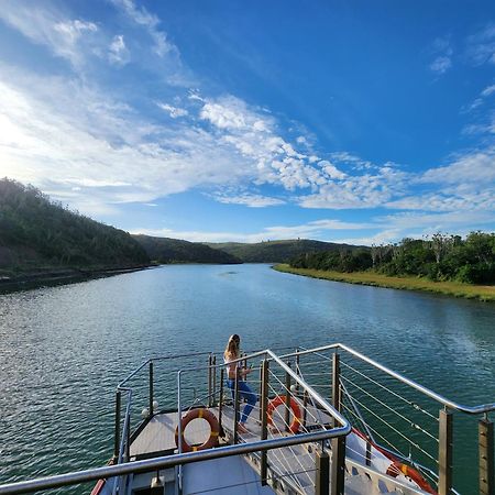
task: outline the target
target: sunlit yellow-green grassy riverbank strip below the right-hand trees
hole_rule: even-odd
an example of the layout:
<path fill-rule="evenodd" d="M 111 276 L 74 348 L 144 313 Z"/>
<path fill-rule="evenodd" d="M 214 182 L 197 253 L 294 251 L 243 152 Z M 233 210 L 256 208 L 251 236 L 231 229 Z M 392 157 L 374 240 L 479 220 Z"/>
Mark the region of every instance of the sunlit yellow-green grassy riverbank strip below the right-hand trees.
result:
<path fill-rule="evenodd" d="M 327 272 L 323 270 L 293 268 L 288 264 L 278 264 L 274 270 L 294 275 L 322 278 L 348 284 L 372 285 L 404 290 L 425 290 L 448 296 L 463 297 L 495 302 L 495 286 L 462 284 L 460 282 L 432 282 L 418 277 L 389 277 L 374 272 Z"/>

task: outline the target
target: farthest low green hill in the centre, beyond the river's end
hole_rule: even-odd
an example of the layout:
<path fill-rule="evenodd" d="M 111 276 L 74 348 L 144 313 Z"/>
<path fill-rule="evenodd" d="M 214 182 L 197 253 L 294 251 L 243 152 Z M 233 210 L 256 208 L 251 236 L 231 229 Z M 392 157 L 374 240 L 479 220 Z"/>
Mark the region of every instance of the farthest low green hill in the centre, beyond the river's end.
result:
<path fill-rule="evenodd" d="M 245 263 L 285 263 L 304 253 L 358 249 L 355 245 L 310 241 L 308 239 L 267 241 L 257 242 L 255 244 L 224 242 L 208 243 L 207 245 L 232 254 Z"/>

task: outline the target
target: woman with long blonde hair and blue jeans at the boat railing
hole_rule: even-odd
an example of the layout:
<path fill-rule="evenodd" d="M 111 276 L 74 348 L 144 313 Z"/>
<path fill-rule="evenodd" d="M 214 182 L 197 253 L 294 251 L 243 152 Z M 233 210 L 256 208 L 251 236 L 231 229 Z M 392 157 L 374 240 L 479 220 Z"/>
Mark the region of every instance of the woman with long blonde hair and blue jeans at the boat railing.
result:
<path fill-rule="evenodd" d="M 231 389 L 232 397 L 235 393 L 235 371 L 238 372 L 239 378 L 242 378 L 251 373 L 251 369 L 241 367 L 240 361 L 237 363 L 232 363 L 232 361 L 235 361 L 240 358 L 240 345 L 241 338 L 238 334 L 230 336 L 226 352 L 223 352 L 223 362 L 227 364 L 227 386 Z M 251 414 L 256 404 L 256 394 L 254 394 L 254 392 L 243 380 L 238 381 L 238 388 L 240 396 L 246 402 L 241 415 L 241 419 L 238 424 L 238 430 L 241 433 L 246 433 L 249 430 L 245 427 L 245 421 L 248 420 L 248 416 Z"/>

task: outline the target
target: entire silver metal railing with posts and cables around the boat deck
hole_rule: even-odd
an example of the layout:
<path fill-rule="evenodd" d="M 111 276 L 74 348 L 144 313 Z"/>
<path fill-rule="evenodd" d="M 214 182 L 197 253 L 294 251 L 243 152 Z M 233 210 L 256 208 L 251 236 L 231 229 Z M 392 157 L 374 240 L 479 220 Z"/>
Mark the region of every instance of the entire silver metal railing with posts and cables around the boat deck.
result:
<path fill-rule="evenodd" d="M 331 351 L 331 355 L 328 355 L 328 351 Z M 283 355 L 277 355 L 270 350 L 254 352 L 250 355 L 242 356 L 238 362 L 248 361 L 248 360 L 260 360 L 261 365 L 258 370 L 262 373 L 260 376 L 260 397 L 261 405 L 258 407 L 260 418 L 262 420 L 262 436 L 260 440 L 255 440 L 252 442 L 240 442 L 237 443 L 235 438 L 235 426 L 232 426 L 233 433 L 233 444 L 222 446 L 210 450 L 204 450 L 198 452 L 182 452 L 180 440 L 179 440 L 179 453 L 170 454 L 170 455 L 161 455 L 154 459 L 146 460 L 132 460 L 131 462 L 131 442 L 132 442 L 132 421 L 131 419 L 134 417 L 133 413 L 133 400 L 135 402 L 135 392 L 136 389 L 130 385 L 130 382 L 136 377 L 140 372 L 147 371 L 148 374 L 148 387 L 147 387 L 147 402 L 148 402 L 148 418 L 154 415 L 154 399 L 156 394 L 156 385 L 164 384 L 169 391 L 175 388 L 175 384 L 177 385 L 176 396 L 178 402 L 178 413 L 180 414 L 185 410 L 184 408 L 184 396 L 180 395 L 180 389 L 184 385 L 184 376 L 186 373 L 191 372 L 194 370 L 198 370 L 201 366 L 182 366 L 183 369 L 177 372 L 176 381 L 175 378 L 167 378 L 168 382 L 160 382 L 161 378 L 156 375 L 155 367 L 161 362 L 167 362 L 170 360 L 202 360 L 204 358 L 208 358 L 208 364 L 206 365 L 208 371 L 211 373 L 208 374 L 208 395 L 206 399 L 208 400 L 208 406 L 222 407 L 222 393 L 223 389 L 223 380 L 217 382 L 217 371 L 223 369 L 223 364 L 216 363 L 216 356 L 219 353 L 208 353 L 208 352 L 199 352 L 195 354 L 184 354 L 177 356 L 160 356 L 153 358 L 145 361 L 138 369 L 135 369 L 129 376 L 127 376 L 117 388 L 117 397 L 116 397 L 116 441 L 114 441 L 114 461 L 117 464 L 109 465 L 105 468 L 97 468 L 91 470 L 85 470 L 79 472 L 66 473 L 62 475 L 55 475 L 50 477 L 43 477 L 38 480 L 28 481 L 28 482 L 16 482 L 10 483 L 0 486 L 0 495 L 4 494 L 21 494 L 21 493 L 31 493 L 41 490 L 56 488 L 67 485 L 75 485 L 85 482 L 97 481 L 101 479 L 111 480 L 113 485 L 113 493 L 119 492 L 120 495 L 124 495 L 127 492 L 127 486 L 129 485 L 127 476 L 130 474 L 139 474 L 139 473 L 148 473 L 154 472 L 167 468 L 179 466 L 178 468 L 178 482 L 182 483 L 180 472 L 182 466 L 212 459 L 220 459 L 230 455 L 241 455 L 249 454 L 251 459 L 257 460 L 261 470 L 261 480 L 262 482 L 267 481 L 267 452 L 274 451 L 280 448 L 293 448 L 294 446 L 299 446 L 301 443 L 307 442 L 316 442 L 321 444 L 321 449 L 319 455 L 316 459 L 316 472 L 319 470 L 320 481 L 324 480 L 324 475 L 331 477 L 330 485 L 334 493 L 343 493 L 343 466 L 345 463 L 345 436 L 351 431 L 351 425 L 349 420 L 342 415 L 342 410 L 345 413 L 351 411 L 352 409 L 358 410 L 358 407 L 361 407 L 361 403 L 363 403 L 363 398 L 367 393 L 370 393 L 369 388 L 363 387 L 359 384 L 356 388 L 360 392 L 359 397 L 352 398 L 352 395 L 346 392 L 346 387 L 352 387 L 355 385 L 353 383 L 353 378 L 351 375 L 346 374 L 346 371 L 351 371 L 355 376 L 361 376 L 361 369 L 352 367 L 351 364 L 341 361 L 339 364 L 339 360 L 337 359 L 336 365 L 336 355 L 339 356 L 339 352 L 349 354 L 353 359 L 358 360 L 360 363 L 364 363 L 371 369 L 375 371 L 380 371 L 386 376 L 398 381 L 400 384 L 407 385 L 410 389 L 418 392 L 420 395 L 432 399 L 433 402 L 440 404 L 442 409 L 439 411 L 438 417 L 435 417 L 435 420 L 438 425 L 438 492 L 440 495 L 450 495 L 454 493 L 452 487 L 452 411 L 459 411 L 463 414 L 468 414 L 470 416 L 482 415 L 482 419 L 480 420 L 480 430 L 479 430 L 479 447 L 480 447 L 480 494 L 488 495 L 494 491 L 494 480 L 493 480 L 493 464 L 494 464 L 494 444 L 493 444 L 493 424 L 490 421 L 488 414 L 495 410 L 494 404 L 484 404 L 477 406 L 465 406 L 462 404 L 458 404 L 454 400 L 451 400 L 420 384 L 417 382 L 407 378 L 406 376 L 397 373 L 387 366 L 382 365 L 381 363 L 361 354 L 360 352 L 344 345 L 341 343 L 336 343 L 331 345 L 324 345 L 316 349 L 299 349 L 296 352 L 285 353 Z M 328 363 L 327 373 L 330 380 L 322 380 L 322 371 L 321 369 L 317 369 L 315 371 L 315 378 L 319 381 L 318 384 L 314 385 L 310 383 L 311 381 L 311 365 L 308 363 L 307 370 L 304 370 L 304 360 L 306 356 L 319 358 Z M 343 354 L 342 354 L 343 355 Z M 294 366 L 289 366 L 287 361 L 292 361 Z M 274 370 L 270 370 L 270 363 L 274 363 L 278 370 L 278 374 Z M 345 373 L 342 372 L 341 367 L 345 367 Z M 352 370 L 351 370 L 352 367 Z M 202 366 L 205 370 L 205 366 Z M 272 378 L 272 385 L 270 385 L 268 376 Z M 366 376 L 370 378 L 370 376 Z M 324 382 L 324 383 L 323 383 Z M 270 389 L 270 386 L 273 388 Z M 278 389 L 282 389 L 286 396 L 286 404 L 284 414 L 279 415 L 280 424 L 285 427 L 288 426 L 288 414 L 289 414 L 289 399 L 290 394 L 294 394 L 300 402 L 304 404 L 304 408 L 309 403 L 312 403 L 316 408 L 323 410 L 328 414 L 329 417 L 332 418 L 334 428 L 327 429 L 326 427 L 320 428 L 316 431 L 311 429 L 302 428 L 302 432 L 298 435 L 285 436 L 285 437 L 270 437 L 270 431 L 266 430 L 266 403 L 268 399 L 270 392 L 272 396 L 279 393 Z M 361 391 L 360 391 L 361 387 Z M 327 391 L 328 393 L 322 393 L 320 389 Z M 364 392 L 363 392 L 364 391 Z M 190 391 L 189 391 L 190 392 Z M 392 391 L 394 393 L 394 391 Z M 196 391 L 195 394 L 196 396 Z M 219 397 L 217 400 L 216 397 Z M 122 396 L 125 398 L 125 411 L 123 418 L 121 417 L 121 408 L 122 408 Z M 329 397 L 327 400 L 324 397 Z M 349 398 L 351 397 L 351 398 Z M 190 397 L 187 397 L 187 400 L 190 400 Z M 199 402 L 200 398 L 198 399 Z M 354 402 L 354 405 L 352 404 Z M 227 407 L 227 404 L 223 404 Z M 239 402 L 234 399 L 230 405 L 234 409 L 234 417 L 237 410 L 239 408 Z M 354 407 L 355 406 L 355 407 Z M 417 405 L 414 404 L 416 407 Z M 280 406 L 284 407 L 284 406 Z M 309 410 L 309 409 L 308 409 Z M 365 411 L 364 411 L 365 413 Z M 307 411 L 305 411 L 307 414 Z M 221 415 L 221 413 L 220 413 Z M 352 415 L 351 415 L 352 416 Z M 354 417 L 354 416 L 352 416 Z M 123 419 L 123 421 L 122 421 Z M 362 421 L 365 424 L 364 418 L 361 414 L 355 414 L 355 420 Z M 123 422 L 123 425 L 122 425 Z M 306 426 L 306 417 L 302 418 L 302 426 Z M 180 435 L 180 421 L 178 421 L 179 436 Z M 367 436 L 372 437 L 374 431 L 370 428 L 365 431 Z M 332 447 L 332 458 L 337 462 L 332 462 L 332 472 L 328 472 L 328 459 L 326 459 L 326 450 L 331 443 Z M 386 449 L 385 449 L 386 450 Z M 321 455 L 320 455 L 321 454 Z M 363 472 L 366 472 L 369 476 L 372 475 L 372 470 L 367 469 L 365 465 L 358 466 L 353 461 L 349 461 L 348 468 L 359 469 Z M 324 472 L 327 470 L 327 473 Z M 339 471 L 340 470 L 340 471 Z M 367 470 L 367 471 L 366 471 Z M 283 474 L 278 473 L 278 477 L 282 479 Z M 378 476 L 383 479 L 383 475 Z M 340 482 L 341 481 L 341 482 Z M 323 483 L 324 484 L 324 483 Z M 328 493 L 328 483 L 327 483 L 327 493 Z M 316 486 L 316 492 L 321 490 L 321 493 L 324 493 L 324 486 Z M 340 490 L 340 492 L 339 492 Z M 406 492 L 404 492 L 406 493 Z"/>

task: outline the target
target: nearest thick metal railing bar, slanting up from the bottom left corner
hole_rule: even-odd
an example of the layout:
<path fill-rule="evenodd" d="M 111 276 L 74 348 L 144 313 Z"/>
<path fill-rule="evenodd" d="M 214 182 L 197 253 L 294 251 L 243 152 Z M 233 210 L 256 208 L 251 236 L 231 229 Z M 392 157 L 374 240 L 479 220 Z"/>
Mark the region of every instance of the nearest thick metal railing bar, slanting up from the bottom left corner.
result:
<path fill-rule="evenodd" d="M 10 483 L 0 486 L 0 495 L 19 495 L 40 490 L 57 488 L 61 486 L 121 476 L 124 474 L 157 471 L 165 468 L 174 468 L 176 465 L 184 465 L 193 462 L 227 458 L 229 455 L 241 455 L 251 452 L 279 449 L 282 447 L 297 446 L 299 443 L 319 442 L 331 438 L 346 436 L 350 431 L 351 426 L 346 424 L 343 427 L 333 428 L 331 430 L 320 430 L 312 433 L 300 433 L 290 437 L 261 440 L 250 443 L 238 443 L 235 446 L 219 447 L 217 449 L 165 455 L 155 459 L 146 459 L 142 461 L 127 462 L 123 464 L 96 468 L 92 470 L 59 474 L 28 482 Z"/>

